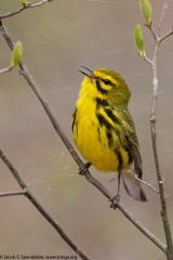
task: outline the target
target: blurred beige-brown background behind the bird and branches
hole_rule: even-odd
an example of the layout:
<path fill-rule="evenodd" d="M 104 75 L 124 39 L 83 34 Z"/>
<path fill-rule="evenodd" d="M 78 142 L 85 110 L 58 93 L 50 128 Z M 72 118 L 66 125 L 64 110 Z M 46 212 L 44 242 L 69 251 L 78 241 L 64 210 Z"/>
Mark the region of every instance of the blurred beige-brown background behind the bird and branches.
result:
<path fill-rule="evenodd" d="M 36 1 L 31 1 L 32 3 Z M 157 29 L 162 2 L 154 6 Z M 162 34 L 173 24 L 173 2 L 169 2 Z M 0 12 L 21 6 L 18 0 L 0 1 Z M 138 0 L 55 0 L 41 8 L 26 10 L 3 21 L 14 41 L 24 47 L 24 62 L 48 100 L 58 123 L 72 142 L 71 114 L 82 80 L 80 65 L 107 66 L 127 80 L 132 98 L 130 110 L 135 121 L 144 164 L 144 180 L 157 187 L 150 141 L 149 112 L 152 72 L 138 55 L 133 28 L 143 25 Z M 152 55 L 152 37 L 143 26 L 146 52 Z M 158 150 L 171 224 L 173 222 L 173 38 L 160 47 L 159 100 L 157 107 Z M 11 51 L 0 35 L 0 67 L 10 63 Z M 64 144 L 55 133 L 41 104 L 15 68 L 0 75 L 0 143 L 30 190 L 50 214 L 91 259 L 165 259 L 164 255 L 133 226 L 119 210 L 78 176 Z M 74 142 L 72 142 L 74 144 Z M 0 161 L 0 192 L 16 191 L 12 173 Z M 116 193 L 116 176 L 93 176 Z M 144 187 L 148 203 L 132 200 L 121 190 L 121 202 L 162 242 L 159 196 Z M 75 255 L 53 227 L 23 196 L 0 199 L 1 255 Z M 79 257 L 78 257 L 79 259 Z"/>

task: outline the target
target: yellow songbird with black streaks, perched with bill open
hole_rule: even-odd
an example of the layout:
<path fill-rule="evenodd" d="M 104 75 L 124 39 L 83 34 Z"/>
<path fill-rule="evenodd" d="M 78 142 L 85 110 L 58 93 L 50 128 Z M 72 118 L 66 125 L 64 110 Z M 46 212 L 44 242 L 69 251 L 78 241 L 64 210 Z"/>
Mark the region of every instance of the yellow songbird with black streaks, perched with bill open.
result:
<path fill-rule="evenodd" d="M 72 115 L 75 143 L 96 169 L 117 171 L 128 194 L 146 202 L 141 183 L 142 159 L 133 119 L 128 109 L 131 92 L 124 79 L 105 67 L 93 70 L 82 66 L 84 74 L 76 109 Z M 119 193 L 119 187 L 118 187 Z M 119 195 L 119 194 L 118 194 Z"/>

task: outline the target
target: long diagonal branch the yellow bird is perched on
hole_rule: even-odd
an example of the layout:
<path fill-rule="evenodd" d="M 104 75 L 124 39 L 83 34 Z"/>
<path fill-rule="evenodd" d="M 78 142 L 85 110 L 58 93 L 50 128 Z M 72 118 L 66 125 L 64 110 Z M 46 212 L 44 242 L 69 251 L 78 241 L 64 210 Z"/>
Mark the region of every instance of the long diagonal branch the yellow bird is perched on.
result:
<path fill-rule="evenodd" d="M 14 47 L 14 42 L 12 40 L 12 38 L 10 37 L 8 30 L 5 29 L 5 27 L 1 24 L 0 25 L 0 31 L 2 32 L 4 39 L 6 40 L 9 47 L 11 49 L 13 49 Z M 79 158 L 78 154 L 75 152 L 72 145 L 70 144 L 70 142 L 68 141 L 68 139 L 66 138 L 66 135 L 64 134 L 64 132 L 62 131 L 62 129 L 59 128 L 55 116 L 53 115 L 45 98 L 43 96 L 43 94 L 41 93 L 40 89 L 38 88 L 38 86 L 36 84 L 35 80 L 32 79 L 31 75 L 29 74 L 26 65 L 23 63 L 23 61 L 19 62 L 19 67 L 22 70 L 22 75 L 25 77 L 25 79 L 27 80 L 27 82 L 29 83 L 29 86 L 31 87 L 31 89 L 34 90 L 35 94 L 37 95 L 37 98 L 39 99 L 39 101 L 41 102 L 46 115 L 49 116 L 55 131 L 57 132 L 57 134 L 59 135 L 59 138 L 62 139 L 62 141 L 64 142 L 65 146 L 67 147 L 67 150 L 69 151 L 70 155 L 72 156 L 72 158 L 75 159 L 75 161 L 77 162 L 77 165 L 80 167 L 82 165 L 81 159 Z M 97 187 L 108 199 L 112 198 L 112 195 L 98 182 L 96 181 L 88 170 L 84 171 L 84 177 L 86 178 L 86 180 L 92 183 L 95 187 Z M 135 218 L 132 218 L 132 214 L 128 211 L 124 210 L 124 207 L 120 204 L 118 206 L 118 208 L 121 210 L 121 212 L 123 212 L 123 214 L 138 229 L 138 230 L 143 230 L 143 233 L 152 242 L 155 243 L 162 251 L 165 252 L 165 245 L 162 244 L 156 236 L 154 236 L 152 233 L 150 233 L 146 227 L 143 229 L 143 225 L 138 222 L 135 221 Z M 129 213 L 128 213 L 129 212 Z"/>

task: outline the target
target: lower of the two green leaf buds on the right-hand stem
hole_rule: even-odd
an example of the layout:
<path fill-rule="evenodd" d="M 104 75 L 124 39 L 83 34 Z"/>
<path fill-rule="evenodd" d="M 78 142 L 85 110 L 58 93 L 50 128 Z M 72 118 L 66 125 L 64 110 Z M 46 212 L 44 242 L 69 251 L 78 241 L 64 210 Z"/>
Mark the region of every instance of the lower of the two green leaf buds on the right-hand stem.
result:
<path fill-rule="evenodd" d="M 146 56 L 141 25 L 134 27 L 134 41 L 142 57 Z"/>

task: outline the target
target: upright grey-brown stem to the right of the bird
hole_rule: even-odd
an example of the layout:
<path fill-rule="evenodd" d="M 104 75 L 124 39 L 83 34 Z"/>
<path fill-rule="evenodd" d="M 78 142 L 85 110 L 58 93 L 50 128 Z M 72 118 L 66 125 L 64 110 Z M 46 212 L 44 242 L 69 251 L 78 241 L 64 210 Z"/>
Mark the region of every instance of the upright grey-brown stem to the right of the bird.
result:
<path fill-rule="evenodd" d="M 168 210 L 165 204 L 165 196 L 164 196 L 164 180 L 161 176 L 159 158 L 158 158 L 158 150 L 157 150 L 157 133 L 156 133 L 156 106 L 157 106 L 157 99 L 158 99 L 158 72 L 157 72 L 157 54 L 159 49 L 160 41 L 157 38 L 155 42 L 155 50 L 154 50 L 154 58 L 152 58 L 152 70 L 154 70 L 154 95 L 152 95 L 152 105 L 150 110 L 150 130 L 151 130 L 151 141 L 152 141 L 152 150 L 154 150 L 154 157 L 155 157 L 155 166 L 156 172 L 158 178 L 159 191 L 160 191 L 160 202 L 161 202 L 161 218 L 163 222 L 165 239 L 167 239 L 167 258 L 168 260 L 173 260 L 173 244 L 172 244 L 172 235 L 170 223 L 168 219 Z"/>

